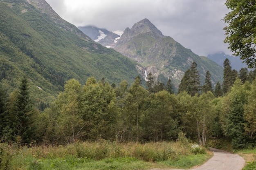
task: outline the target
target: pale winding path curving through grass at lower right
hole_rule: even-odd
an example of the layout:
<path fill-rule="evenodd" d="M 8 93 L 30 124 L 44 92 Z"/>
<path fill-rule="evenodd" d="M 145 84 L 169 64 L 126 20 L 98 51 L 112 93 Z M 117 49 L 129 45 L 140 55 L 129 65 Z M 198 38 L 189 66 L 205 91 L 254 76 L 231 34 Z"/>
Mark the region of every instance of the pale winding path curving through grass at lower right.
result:
<path fill-rule="evenodd" d="M 239 155 L 231 154 L 215 148 L 210 148 L 210 150 L 214 154 L 213 157 L 202 166 L 191 170 L 242 170 L 245 160 Z"/>

